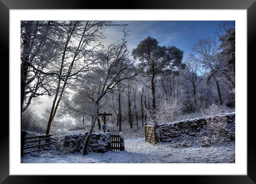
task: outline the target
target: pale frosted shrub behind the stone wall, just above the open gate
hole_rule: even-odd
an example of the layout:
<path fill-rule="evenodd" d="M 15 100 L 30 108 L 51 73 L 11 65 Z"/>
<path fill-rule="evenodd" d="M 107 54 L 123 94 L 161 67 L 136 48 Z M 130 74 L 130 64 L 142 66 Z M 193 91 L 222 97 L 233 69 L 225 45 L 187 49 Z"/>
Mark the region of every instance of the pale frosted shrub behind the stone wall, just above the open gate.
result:
<path fill-rule="evenodd" d="M 181 103 L 175 98 L 161 100 L 156 104 L 155 116 L 160 124 L 173 122 L 181 113 Z M 145 109 L 145 114 L 149 119 L 152 118 L 152 113 L 148 109 Z"/>

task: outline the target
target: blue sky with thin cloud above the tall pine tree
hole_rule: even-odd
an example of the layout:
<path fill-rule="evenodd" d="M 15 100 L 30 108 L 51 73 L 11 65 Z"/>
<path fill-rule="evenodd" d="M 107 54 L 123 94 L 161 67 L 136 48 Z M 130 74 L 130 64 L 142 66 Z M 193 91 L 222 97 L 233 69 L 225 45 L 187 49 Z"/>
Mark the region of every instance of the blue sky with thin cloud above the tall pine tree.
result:
<path fill-rule="evenodd" d="M 199 38 L 214 36 L 221 21 L 114 21 L 117 24 L 128 24 L 128 49 L 136 48 L 147 36 L 156 38 L 160 46 L 176 46 L 188 56 L 190 47 Z M 123 26 L 109 26 L 105 31 L 105 42 L 112 43 L 123 36 Z"/>

